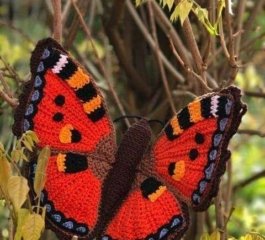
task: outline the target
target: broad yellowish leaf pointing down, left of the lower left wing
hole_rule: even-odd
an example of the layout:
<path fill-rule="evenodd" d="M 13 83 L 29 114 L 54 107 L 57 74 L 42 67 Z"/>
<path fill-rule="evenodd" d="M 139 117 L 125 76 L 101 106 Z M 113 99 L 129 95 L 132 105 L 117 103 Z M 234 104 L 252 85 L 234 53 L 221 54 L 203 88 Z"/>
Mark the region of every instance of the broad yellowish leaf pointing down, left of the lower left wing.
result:
<path fill-rule="evenodd" d="M 12 176 L 7 183 L 7 192 L 16 212 L 27 199 L 29 192 L 28 181 L 21 176 Z"/>

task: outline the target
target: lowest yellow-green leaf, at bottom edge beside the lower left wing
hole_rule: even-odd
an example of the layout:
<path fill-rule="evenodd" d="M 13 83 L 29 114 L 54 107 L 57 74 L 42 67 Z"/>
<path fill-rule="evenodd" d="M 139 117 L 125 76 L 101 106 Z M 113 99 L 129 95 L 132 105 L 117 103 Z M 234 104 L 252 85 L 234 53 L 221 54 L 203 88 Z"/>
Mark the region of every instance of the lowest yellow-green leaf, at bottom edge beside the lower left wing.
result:
<path fill-rule="evenodd" d="M 39 240 L 45 226 L 41 215 L 33 213 L 27 216 L 22 226 L 22 237 L 27 240 Z"/>

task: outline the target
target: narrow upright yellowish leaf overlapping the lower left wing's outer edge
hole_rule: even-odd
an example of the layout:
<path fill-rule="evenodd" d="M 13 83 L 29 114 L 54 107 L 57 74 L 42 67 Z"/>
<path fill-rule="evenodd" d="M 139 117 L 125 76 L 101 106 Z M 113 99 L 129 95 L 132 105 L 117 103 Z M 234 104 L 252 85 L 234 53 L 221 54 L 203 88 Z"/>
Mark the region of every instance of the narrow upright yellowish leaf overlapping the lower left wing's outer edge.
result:
<path fill-rule="evenodd" d="M 45 180 L 46 180 L 46 169 L 48 165 L 48 160 L 51 155 L 51 150 L 49 147 L 44 147 L 40 155 L 38 157 L 36 174 L 34 179 L 34 191 L 37 197 L 40 196 L 41 191 L 44 188 Z"/>

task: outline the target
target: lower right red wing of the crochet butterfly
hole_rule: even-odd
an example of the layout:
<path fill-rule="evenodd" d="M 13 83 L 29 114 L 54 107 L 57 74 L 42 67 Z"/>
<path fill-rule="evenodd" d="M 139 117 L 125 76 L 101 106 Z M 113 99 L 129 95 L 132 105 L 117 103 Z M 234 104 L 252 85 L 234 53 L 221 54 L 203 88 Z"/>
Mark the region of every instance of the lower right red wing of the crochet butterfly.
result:
<path fill-rule="evenodd" d="M 130 192 L 102 239 L 177 240 L 187 226 L 186 205 L 156 178 L 146 177 Z"/>

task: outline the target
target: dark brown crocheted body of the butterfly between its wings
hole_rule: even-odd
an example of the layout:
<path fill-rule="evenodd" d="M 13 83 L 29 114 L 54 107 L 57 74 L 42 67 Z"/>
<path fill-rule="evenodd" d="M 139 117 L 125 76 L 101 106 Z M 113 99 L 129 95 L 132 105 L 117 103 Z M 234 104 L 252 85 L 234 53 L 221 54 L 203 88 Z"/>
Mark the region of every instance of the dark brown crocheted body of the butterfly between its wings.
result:
<path fill-rule="evenodd" d="M 103 185 L 99 218 L 91 239 L 100 237 L 131 190 L 136 168 L 151 139 L 151 130 L 146 120 L 134 124 L 125 133 L 116 153 L 116 161 Z"/>

